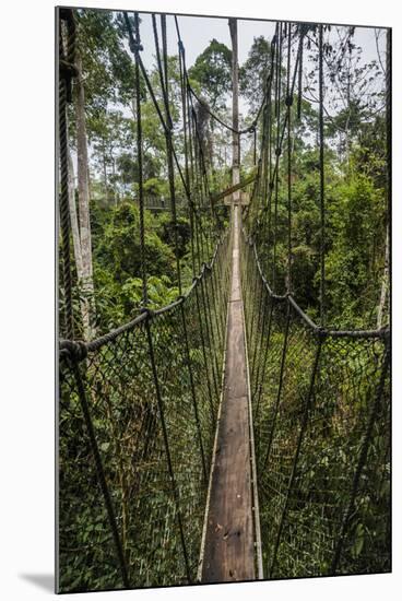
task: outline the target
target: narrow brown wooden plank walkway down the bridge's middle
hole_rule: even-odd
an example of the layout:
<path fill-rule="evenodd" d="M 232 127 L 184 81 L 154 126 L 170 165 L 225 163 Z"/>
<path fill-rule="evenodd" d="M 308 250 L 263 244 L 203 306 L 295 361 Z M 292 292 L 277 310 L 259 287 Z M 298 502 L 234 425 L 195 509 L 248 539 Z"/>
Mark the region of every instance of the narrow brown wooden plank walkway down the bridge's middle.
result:
<path fill-rule="evenodd" d="M 211 478 L 202 582 L 256 578 L 238 211 L 235 207 L 224 392 Z"/>

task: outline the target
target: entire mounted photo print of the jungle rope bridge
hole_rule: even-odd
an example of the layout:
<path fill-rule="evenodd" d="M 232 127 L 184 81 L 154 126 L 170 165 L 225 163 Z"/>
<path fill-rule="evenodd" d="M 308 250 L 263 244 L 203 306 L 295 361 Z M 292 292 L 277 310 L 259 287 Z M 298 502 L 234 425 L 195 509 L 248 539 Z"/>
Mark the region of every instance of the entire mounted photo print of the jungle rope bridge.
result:
<path fill-rule="evenodd" d="M 390 571 L 391 30 L 56 25 L 57 591 Z"/>

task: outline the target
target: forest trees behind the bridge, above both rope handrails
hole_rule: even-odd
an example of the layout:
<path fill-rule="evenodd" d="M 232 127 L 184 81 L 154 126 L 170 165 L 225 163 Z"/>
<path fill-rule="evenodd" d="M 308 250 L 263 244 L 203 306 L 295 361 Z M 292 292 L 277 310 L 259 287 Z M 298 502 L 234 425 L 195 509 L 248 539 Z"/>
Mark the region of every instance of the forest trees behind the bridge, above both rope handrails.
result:
<path fill-rule="evenodd" d="M 150 20 L 150 15 L 141 19 Z M 143 300 L 139 280 L 134 62 L 121 13 L 78 10 L 76 26 L 79 78 L 68 116 L 70 208 L 78 282 L 74 304 L 81 322 L 80 338 L 91 339 L 131 319 Z M 377 58 L 370 60 L 356 42 L 355 27 L 328 26 L 324 36 L 328 320 L 334 327 L 345 328 L 383 326 L 389 304 L 385 33 L 373 30 Z M 149 78 L 156 98 L 163 102 L 155 52 L 147 50 L 153 52 Z M 292 173 L 294 292 L 312 318 L 318 311 L 319 285 L 316 50 L 317 32 L 312 27 L 306 35 L 303 79 L 293 106 Z M 271 39 L 259 35 L 239 66 L 243 127 L 252 122 L 262 101 L 270 57 Z M 196 110 L 203 154 L 212 167 L 211 193 L 224 188 L 230 174 L 230 132 L 210 118 L 210 111 L 214 111 L 224 122 L 230 121 L 230 61 L 232 50 L 212 38 L 188 71 L 200 99 Z M 168 56 L 168 73 L 173 130 L 184 165 L 186 141 L 179 91 L 182 74 L 177 54 Z M 283 64 L 283 96 L 286 73 Z M 152 276 L 149 300 L 151 306 L 162 306 L 177 294 L 165 135 L 143 78 L 140 93 L 145 249 Z M 261 139 L 256 143 L 259 146 Z M 247 174 L 252 167 L 252 135 L 245 135 L 241 173 Z M 285 177 L 284 166 L 281 169 L 281 177 Z M 182 182 L 177 174 L 175 177 L 180 261 L 188 286 L 192 278 L 190 223 Z M 284 192 L 279 203 L 279 219 L 285 224 Z M 285 227 L 277 241 L 279 260 L 285 269 Z M 62 311 L 62 290 L 60 302 Z"/>

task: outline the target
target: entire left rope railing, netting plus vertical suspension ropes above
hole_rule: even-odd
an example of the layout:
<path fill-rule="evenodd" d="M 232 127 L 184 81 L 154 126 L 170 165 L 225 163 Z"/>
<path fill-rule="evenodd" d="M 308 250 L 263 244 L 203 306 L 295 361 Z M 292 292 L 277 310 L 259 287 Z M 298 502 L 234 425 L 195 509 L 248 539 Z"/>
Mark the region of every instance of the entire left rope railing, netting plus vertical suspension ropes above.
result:
<path fill-rule="evenodd" d="M 197 114 L 180 82 L 185 155 L 170 118 L 166 20 L 153 15 L 159 94 L 141 60 L 140 20 L 123 13 L 135 61 L 142 308 L 123 326 L 80 341 L 68 210 L 68 110 L 75 75 L 75 22 L 60 11 L 61 307 L 58 408 L 58 588 L 61 592 L 181 585 L 197 579 L 221 393 L 232 233 L 227 210 L 210 202 Z M 159 47 L 162 33 L 162 49 Z M 184 61 L 184 50 L 180 51 Z M 184 62 L 182 62 L 184 64 Z M 142 175 L 141 86 L 166 138 L 174 223 L 173 304 L 151 309 Z M 191 227 L 182 273 L 177 214 Z M 188 273 L 187 269 L 186 273 Z"/>

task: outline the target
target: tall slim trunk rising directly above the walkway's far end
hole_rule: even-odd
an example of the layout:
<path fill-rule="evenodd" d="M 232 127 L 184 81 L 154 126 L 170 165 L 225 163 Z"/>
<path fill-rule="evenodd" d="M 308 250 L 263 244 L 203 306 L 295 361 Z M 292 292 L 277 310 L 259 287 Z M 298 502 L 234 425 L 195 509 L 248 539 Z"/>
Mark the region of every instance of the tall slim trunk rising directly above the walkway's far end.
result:
<path fill-rule="evenodd" d="M 238 40 L 237 40 L 237 20 L 229 19 L 229 30 L 232 38 L 232 81 L 233 81 L 233 101 L 232 101 L 232 127 L 238 131 L 239 111 L 238 111 Z M 232 134 L 232 184 L 235 186 L 240 181 L 240 139 L 235 131 Z M 233 193 L 233 201 L 238 202 L 239 191 Z"/>

